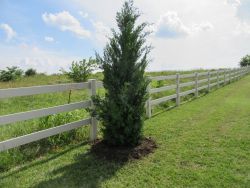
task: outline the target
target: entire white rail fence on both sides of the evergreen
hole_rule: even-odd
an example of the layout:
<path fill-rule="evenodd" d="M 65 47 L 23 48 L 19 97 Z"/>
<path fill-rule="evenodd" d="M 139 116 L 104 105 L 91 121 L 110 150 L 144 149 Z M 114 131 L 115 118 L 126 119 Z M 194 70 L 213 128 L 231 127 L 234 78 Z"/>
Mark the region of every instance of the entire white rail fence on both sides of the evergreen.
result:
<path fill-rule="evenodd" d="M 146 104 L 146 112 L 147 116 L 151 117 L 152 115 L 152 106 L 158 105 L 162 102 L 166 102 L 172 99 L 176 99 L 176 105 L 180 105 L 181 97 L 194 93 L 196 97 L 198 97 L 198 93 L 202 89 L 208 89 L 208 91 L 213 87 L 219 87 L 221 84 L 226 84 L 231 82 L 232 80 L 239 79 L 243 75 L 250 72 L 249 68 L 241 68 L 241 69 L 233 69 L 233 70 L 219 70 L 212 72 L 202 72 L 202 73 L 194 73 L 194 74 L 176 74 L 170 76 L 159 76 L 152 77 L 152 80 L 176 80 L 176 84 L 164 86 L 160 88 L 149 88 L 149 93 L 158 93 L 162 91 L 167 91 L 171 89 L 175 89 L 176 93 L 174 95 L 165 96 L 163 98 L 151 100 L 149 99 Z M 214 76 L 216 75 L 216 76 Z M 206 77 L 205 79 L 199 79 L 200 76 Z M 183 78 L 193 78 L 194 80 L 191 82 L 181 83 L 181 79 Z M 216 82 L 213 82 L 213 81 Z M 207 85 L 199 87 L 199 84 L 206 83 Z M 194 89 L 181 92 L 181 88 L 187 86 L 194 86 Z M 96 95 L 97 88 L 102 88 L 102 82 L 96 81 L 94 79 L 89 80 L 85 83 L 71 83 L 71 84 L 58 84 L 58 85 L 48 85 L 48 86 L 35 86 L 35 87 L 23 87 L 23 88 L 13 88 L 13 89 L 0 89 L 0 99 L 3 98 L 11 98 L 18 96 L 29 96 L 36 94 L 44 94 L 44 93 L 53 93 L 53 92 L 62 92 L 67 90 L 80 90 L 80 89 L 88 89 L 90 91 L 90 95 Z M 71 104 L 65 104 L 50 108 L 44 108 L 39 110 L 32 110 L 28 112 L 15 113 L 10 115 L 0 116 L 0 126 L 4 126 L 6 124 L 15 123 L 18 121 L 30 120 L 34 118 L 39 118 L 43 116 L 48 116 L 52 114 L 58 114 L 62 112 L 69 112 L 76 109 L 83 109 L 87 107 L 91 107 L 93 105 L 91 100 L 81 101 Z M 84 120 L 68 123 L 65 125 L 53 127 L 50 129 L 38 131 L 35 133 L 31 133 L 28 135 L 12 138 L 9 140 L 5 140 L 0 142 L 0 152 L 5 151 L 11 148 L 15 148 L 24 144 L 28 144 L 43 138 L 47 138 L 50 136 L 54 136 L 66 131 L 70 131 L 82 126 L 90 125 L 90 140 L 93 141 L 97 137 L 97 119 L 95 117 L 89 117 Z M 11 126 L 11 125 L 10 125 Z"/>

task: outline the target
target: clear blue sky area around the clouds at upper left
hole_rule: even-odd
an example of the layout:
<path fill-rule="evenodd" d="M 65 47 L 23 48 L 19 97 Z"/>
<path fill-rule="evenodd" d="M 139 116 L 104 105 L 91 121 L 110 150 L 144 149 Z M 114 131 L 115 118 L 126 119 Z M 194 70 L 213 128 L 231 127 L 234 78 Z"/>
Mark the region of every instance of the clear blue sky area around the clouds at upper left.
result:
<path fill-rule="evenodd" d="M 96 46 L 91 43 L 89 38 L 79 40 L 71 32 L 61 32 L 55 27 L 46 25 L 42 19 L 42 15 L 46 12 L 59 13 L 65 10 L 78 19 L 83 26 L 90 30 L 93 29 L 89 20 L 82 19 L 77 10 L 70 7 L 70 4 L 61 3 L 59 0 L 3 0 L 0 8 L 0 20 L 2 23 L 8 23 L 18 33 L 18 37 L 13 42 L 36 45 L 68 55 L 83 57 L 93 55 L 93 49 Z M 53 38 L 56 42 L 48 43 L 45 41 L 46 36 Z M 2 31 L 1 43 L 4 42 L 6 41 Z"/>

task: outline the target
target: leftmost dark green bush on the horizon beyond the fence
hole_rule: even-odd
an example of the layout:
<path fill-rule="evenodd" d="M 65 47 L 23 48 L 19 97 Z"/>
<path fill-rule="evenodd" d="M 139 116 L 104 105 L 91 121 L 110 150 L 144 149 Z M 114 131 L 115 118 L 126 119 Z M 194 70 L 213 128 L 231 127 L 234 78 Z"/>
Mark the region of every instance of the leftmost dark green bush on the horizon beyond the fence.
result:
<path fill-rule="evenodd" d="M 7 67 L 7 70 L 0 70 L 0 81 L 9 82 L 16 80 L 23 75 L 23 71 L 18 67 Z"/>

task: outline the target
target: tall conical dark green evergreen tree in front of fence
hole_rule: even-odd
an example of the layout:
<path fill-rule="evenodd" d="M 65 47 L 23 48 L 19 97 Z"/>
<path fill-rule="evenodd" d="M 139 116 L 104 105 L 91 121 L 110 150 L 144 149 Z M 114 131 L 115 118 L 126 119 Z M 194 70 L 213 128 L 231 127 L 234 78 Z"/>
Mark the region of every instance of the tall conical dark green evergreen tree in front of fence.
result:
<path fill-rule="evenodd" d="M 104 74 L 105 98 L 93 97 L 95 113 L 103 123 L 103 137 L 109 145 L 136 145 L 142 136 L 144 105 L 149 80 L 145 77 L 150 47 L 146 46 L 146 23 L 140 17 L 133 1 L 124 3 L 116 15 L 119 31 L 104 49 L 97 54 Z"/>

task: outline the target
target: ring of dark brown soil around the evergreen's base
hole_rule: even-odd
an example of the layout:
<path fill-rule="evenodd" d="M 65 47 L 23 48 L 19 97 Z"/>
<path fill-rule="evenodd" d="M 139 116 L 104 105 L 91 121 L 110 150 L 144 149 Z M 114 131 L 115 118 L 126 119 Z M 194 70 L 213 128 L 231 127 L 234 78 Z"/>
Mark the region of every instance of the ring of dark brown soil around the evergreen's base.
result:
<path fill-rule="evenodd" d="M 97 140 L 91 147 L 90 152 L 97 158 L 107 161 L 126 162 L 153 153 L 157 148 L 155 141 L 151 138 L 143 138 L 135 147 L 108 146 L 103 140 Z"/>

